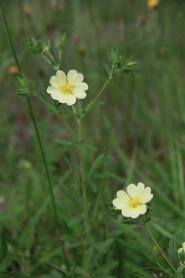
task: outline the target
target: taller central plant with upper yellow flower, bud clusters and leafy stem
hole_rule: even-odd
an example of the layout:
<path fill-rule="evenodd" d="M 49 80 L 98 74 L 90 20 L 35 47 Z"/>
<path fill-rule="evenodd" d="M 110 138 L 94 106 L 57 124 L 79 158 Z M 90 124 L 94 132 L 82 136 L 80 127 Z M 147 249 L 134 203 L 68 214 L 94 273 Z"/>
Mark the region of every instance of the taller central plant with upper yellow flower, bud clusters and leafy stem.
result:
<path fill-rule="evenodd" d="M 89 211 L 89 201 L 87 198 L 87 186 L 91 186 L 93 188 L 94 193 L 96 193 L 96 184 L 93 181 L 92 174 L 97 167 L 103 165 L 107 160 L 107 158 L 103 155 L 98 156 L 92 168 L 89 170 L 87 174 L 85 172 L 84 166 L 84 158 L 83 158 L 83 149 L 96 150 L 96 147 L 88 145 L 84 142 L 84 136 L 82 133 L 82 118 L 96 107 L 96 101 L 102 95 L 105 87 L 111 81 L 114 76 L 122 75 L 122 74 L 130 74 L 136 75 L 136 70 L 138 69 L 138 63 L 130 60 L 123 59 L 123 56 L 118 54 L 116 49 L 109 50 L 109 61 L 110 65 L 104 65 L 107 70 L 108 79 L 100 89 L 98 94 L 91 99 L 91 95 L 88 92 L 87 83 L 83 82 L 84 76 L 82 73 L 78 73 L 77 70 L 69 70 L 67 75 L 62 71 L 61 62 L 62 62 L 62 51 L 64 49 L 64 44 L 67 41 L 67 36 L 65 34 L 60 35 L 59 38 L 55 40 L 55 47 L 58 48 L 58 58 L 54 58 L 50 52 L 51 43 L 45 44 L 42 40 L 35 40 L 35 38 L 26 38 L 26 48 L 33 54 L 39 54 L 45 61 L 48 63 L 53 69 L 56 71 L 55 75 L 51 76 L 49 81 L 45 81 L 43 90 L 37 90 L 35 81 L 26 79 L 26 76 L 21 73 L 20 76 L 17 76 L 15 79 L 15 83 L 17 84 L 17 94 L 21 97 L 28 97 L 28 95 L 32 95 L 37 97 L 39 100 L 43 101 L 46 105 L 46 108 L 62 120 L 62 122 L 67 127 L 69 133 L 71 134 L 72 141 L 60 140 L 59 138 L 55 138 L 56 142 L 59 142 L 60 145 L 66 147 L 67 150 L 71 148 L 77 147 L 79 154 L 79 165 L 80 165 L 80 177 L 78 180 L 78 185 L 71 185 L 73 188 L 73 192 L 75 192 L 76 197 L 78 197 L 78 215 L 75 218 L 71 218 L 69 221 L 69 225 L 79 222 L 82 220 L 84 225 L 84 231 L 81 232 L 80 238 L 81 243 L 76 244 L 76 240 L 69 237 L 69 235 L 64 235 L 61 237 L 62 246 L 64 247 L 64 243 L 66 241 L 75 244 L 76 247 L 80 246 L 82 248 L 82 265 L 78 267 L 68 268 L 69 277 L 73 277 L 73 275 L 81 274 L 82 277 L 89 277 L 90 272 L 96 273 L 96 275 L 103 275 L 104 268 L 111 269 L 117 265 L 116 261 L 112 261 L 110 265 L 104 265 L 104 268 L 96 268 L 97 262 L 94 261 L 91 265 L 88 266 L 88 258 L 90 253 L 94 253 L 95 249 L 93 247 L 94 243 L 92 241 L 91 236 L 91 220 L 90 220 L 90 211 Z M 89 104 L 87 106 L 82 107 L 82 99 L 88 97 L 90 99 Z M 78 101 L 77 101 L 78 100 Z M 76 119 L 78 124 L 78 135 L 75 131 L 73 131 L 72 127 L 69 125 L 65 118 L 65 113 L 70 113 Z M 88 184 L 89 183 L 89 184 Z M 80 186 L 80 187 L 79 187 Z M 70 193 L 67 189 L 60 186 L 61 192 L 69 197 Z M 71 197 L 70 197 L 71 199 Z M 73 197 L 72 197 L 73 199 Z M 61 203 L 58 203 L 61 206 Z M 104 244 L 105 246 L 113 243 L 113 240 L 107 240 Z M 93 244 L 93 245 L 92 245 Z M 105 249 L 105 247 L 104 247 Z M 65 252 L 65 251 L 64 251 Z M 101 252 L 100 252 L 101 253 Z M 64 256 L 66 256 L 64 254 Z M 99 256 L 103 256 L 103 254 L 99 254 Z M 66 262 L 67 263 L 67 262 Z M 67 263 L 69 265 L 69 263 Z M 111 267 L 110 267 L 111 266 Z M 71 273 L 71 274 L 70 274 Z M 72 275 L 72 276 L 70 276 Z M 74 276 L 76 277 L 76 276 Z M 98 276 L 97 276 L 98 277 Z"/>

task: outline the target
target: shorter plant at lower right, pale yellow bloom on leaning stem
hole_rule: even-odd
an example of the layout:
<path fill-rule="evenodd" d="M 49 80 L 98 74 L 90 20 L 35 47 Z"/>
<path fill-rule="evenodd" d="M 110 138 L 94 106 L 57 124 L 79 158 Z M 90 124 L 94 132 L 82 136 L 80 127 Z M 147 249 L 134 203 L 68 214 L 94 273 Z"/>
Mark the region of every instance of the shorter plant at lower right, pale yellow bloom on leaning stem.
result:
<path fill-rule="evenodd" d="M 184 277 L 183 272 L 185 267 L 185 243 L 183 243 L 183 247 L 178 250 L 179 256 L 177 256 L 177 241 L 174 236 L 170 238 L 168 255 L 164 252 L 163 248 L 160 247 L 147 225 L 148 221 L 150 221 L 150 201 L 152 198 L 153 195 L 151 194 L 151 188 L 149 186 L 145 187 L 141 182 L 137 183 L 137 186 L 131 183 L 127 186 L 127 193 L 123 190 L 119 190 L 116 193 L 116 199 L 113 199 L 113 207 L 110 207 L 110 209 L 112 211 L 114 209 L 121 210 L 124 224 L 137 224 L 144 227 L 155 244 L 152 249 L 150 248 L 150 250 L 148 250 L 148 257 L 150 260 L 155 261 L 159 269 L 168 275 L 168 277 L 182 278 Z M 169 268 L 164 268 L 159 263 L 159 256 L 162 256 Z"/>

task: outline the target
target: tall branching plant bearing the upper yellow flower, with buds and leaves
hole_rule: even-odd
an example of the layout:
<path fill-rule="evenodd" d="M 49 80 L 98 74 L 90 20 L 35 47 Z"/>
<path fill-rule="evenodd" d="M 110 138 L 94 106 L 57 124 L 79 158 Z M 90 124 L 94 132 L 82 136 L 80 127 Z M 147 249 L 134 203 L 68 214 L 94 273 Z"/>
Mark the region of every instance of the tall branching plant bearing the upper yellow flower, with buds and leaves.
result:
<path fill-rule="evenodd" d="M 55 40 L 55 47 L 58 48 L 58 58 L 50 52 L 50 42 L 45 44 L 42 40 L 35 40 L 34 38 L 28 37 L 25 39 L 26 47 L 28 51 L 33 54 L 39 54 L 48 63 L 51 68 L 55 70 L 55 74 L 49 76 L 48 80 L 44 83 L 45 90 L 37 90 L 35 81 L 27 79 L 26 76 L 21 72 L 19 76 L 15 78 L 15 83 L 17 84 L 17 94 L 21 97 L 28 97 L 28 95 L 37 97 L 40 101 L 44 102 L 46 108 L 49 112 L 55 114 L 62 123 L 66 126 L 69 132 L 70 140 L 62 140 L 61 138 L 55 138 L 61 147 L 65 148 L 66 151 L 70 152 L 70 149 L 77 149 L 78 156 L 77 164 L 79 165 L 79 177 L 77 183 L 70 183 L 67 187 L 60 184 L 60 192 L 67 197 L 67 203 L 74 200 L 76 206 L 76 215 L 74 216 L 74 211 L 71 211 L 67 224 L 69 227 L 73 227 L 76 224 L 80 227 L 78 235 L 61 234 L 61 244 L 63 245 L 63 258 L 64 264 L 62 271 L 66 272 L 67 277 L 91 277 L 92 273 L 98 277 L 98 275 L 105 275 L 105 271 L 112 270 L 116 267 L 117 261 L 112 259 L 109 264 L 103 266 L 100 265 L 100 260 L 103 259 L 105 250 L 108 250 L 113 243 L 113 238 L 107 238 L 105 242 L 100 243 L 100 245 L 105 245 L 102 247 L 103 251 L 98 251 L 97 258 L 93 255 L 96 252 L 96 243 L 94 242 L 94 233 L 91 222 L 91 217 L 93 215 L 90 207 L 87 189 L 89 187 L 94 192 L 94 198 L 96 195 L 100 194 L 98 192 L 96 182 L 94 182 L 94 171 L 102 167 L 109 161 L 109 157 L 104 154 L 100 154 L 94 163 L 92 163 L 89 171 L 85 170 L 84 165 L 84 154 L 83 149 L 89 149 L 89 151 L 97 151 L 97 148 L 91 146 L 85 142 L 84 133 L 82 129 L 82 119 L 87 116 L 87 113 L 93 113 L 97 106 L 102 105 L 102 102 L 97 102 L 109 81 L 114 79 L 115 76 L 121 76 L 123 74 L 129 74 L 131 76 L 137 75 L 136 70 L 138 69 L 138 63 L 132 60 L 125 60 L 123 56 L 118 54 L 115 49 L 109 50 L 109 60 L 110 65 L 104 65 L 107 71 L 108 78 L 105 81 L 103 87 L 100 91 L 93 97 L 93 88 L 89 88 L 86 83 L 86 76 L 83 73 L 78 72 L 78 69 L 69 69 L 68 72 L 64 72 L 61 61 L 62 54 L 64 50 L 65 43 L 67 41 L 67 35 L 60 35 L 57 40 Z M 86 99 L 86 106 L 83 104 L 83 99 Z M 71 115 L 77 123 L 77 131 L 67 121 L 66 115 Z M 63 203 L 58 200 L 55 202 L 58 204 L 58 209 L 63 206 Z M 100 204 L 96 204 L 98 208 Z M 70 215 L 70 213 L 69 213 Z M 82 226 L 81 224 L 82 223 Z M 61 223 L 62 224 L 62 223 Z M 80 225 L 80 226 L 79 226 Z M 82 228 L 83 227 L 83 228 Z M 73 246 L 73 248 L 78 248 L 79 255 L 72 259 L 67 259 L 66 248 L 67 246 Z M 108 248 L 108 249 L 107 249 Z M 94 256 L 94 259 L 89 261 L 89 256 Z M 100 259 L 102 258 L 102 259 Z M 70 262 L 76 261 L 76 263 Z M 94 276 L 95 277 L 95 276 Z"/>

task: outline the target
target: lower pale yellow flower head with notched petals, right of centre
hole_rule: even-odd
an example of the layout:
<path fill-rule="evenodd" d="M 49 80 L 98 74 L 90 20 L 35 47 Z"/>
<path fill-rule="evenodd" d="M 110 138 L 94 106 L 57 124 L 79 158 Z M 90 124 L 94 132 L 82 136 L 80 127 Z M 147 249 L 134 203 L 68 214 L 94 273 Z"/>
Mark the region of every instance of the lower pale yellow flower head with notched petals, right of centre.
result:
<path fill-rule="evenodd" d="M 139 182 L 137 186 L 134 184 L 127 186 L 127 193 L 119 190 L 112 203 L 116 209 L 121 210 L 123 216 L 137 218 L 140 214 L 146 213 L 146 203 L 150 202 L 152 197 L 151 188 L 145 188 L 144 184 Z"/>

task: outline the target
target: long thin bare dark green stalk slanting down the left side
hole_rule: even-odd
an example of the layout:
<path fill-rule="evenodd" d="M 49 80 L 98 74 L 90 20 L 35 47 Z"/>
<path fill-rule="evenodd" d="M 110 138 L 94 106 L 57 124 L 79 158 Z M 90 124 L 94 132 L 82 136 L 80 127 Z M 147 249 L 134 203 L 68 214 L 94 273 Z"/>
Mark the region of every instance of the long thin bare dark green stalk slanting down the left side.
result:
<path fill-rule="evenodd" d="M 6 26 L 6 33 L 8 35 L 8 39 L 9 39 L 9 42 L 10 42 L 10 46 L 11 46 L 11 49 L 12 49 L 12 53 L 13 53 L 13 56 L 15 58 L 15 63 L 17 64 L 17 67 L 19 69 L 19 72 L 21 72 L 21 66 L 19 64 L 19 60 L 17 58 L 17 54 L 16 54 L 16 51 L 15 51 L 15 47 L 14 47 L 14 44 L 12 42 L 12 37 L 11 37 L 11 34 L 10 34 L 10 28 L 8 26 L 8 22 L 7 22 L 7 19 L 6 19 L 6 13 L 3 9 L 3 3 L 2 1 L 0 0 L 0 6 L 1 6 L 1 12 L 2 12 L 2 15 L 3 15 L 3 21 L 4 21 L 4 24 Z M 45 156 L 45 153 L 44 153 L 44 148 L 42 146 L 42 141 L 40 139 L 40 136 L 39 136 L 39 130 L 37 128 L 37 122 L 35 120 L 35 115 L 33 113 L 33 108 L 31 106 L 31 103 L 30 103 L 30 99 L 29 97 L 26 97 L 26 100 L 27 100 L 27 103 L 28 103 L 28 108 L 30 110 L 30 117 L 31 117 L 31 120 L 33 121 L 33 126 L 34 126 L 34 129 L 35 129 L 35 134 L 36 134 L 36 137 L 37 137 L 37 141 L 39 143 L 39 149 L 40 149 L 40 152 L 42 154 L 42 161 L 43 161 L 43 164 L 44 164 L 44 168 L 45 168 L 45 172 L 46 172 L 46 178 L 48 180 L 48 184 L 49 184 L 49 193 L 51 195 L 51 202 L 53 204 L 53 211 L 55 213 L 55 220 L 57 222 L 57 225 L 58 225 L 58 229 L 59 231 L 62 233 L 62 229 L 60 227 L 60 222 L 59 222 L 59 218 L 58 218 L 58 212 L 57 212 L 57 208 L 56 208 L 56 205 L 55 205 L 55 198 L 54 198 L 54 194 L 53 194 L 53 188 L 52 188 L 52 183 L 51 183 L 51 177 L 50 177 L 50 174 L 49 174 L 49 167 L 48 167 L 48 163 L 46 161 L 46 156 Z M 63 250 L 64 251 L 64 250 Z M 64 256 L 64 259 L 65 259 L 65 256 Z M 66 259 L 65 259 L 66 261 Z M 67 262 L 67 261 L 66 261 Z"/>

